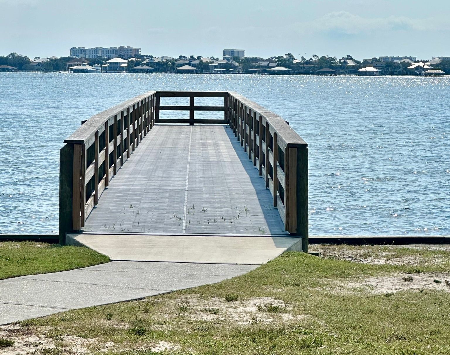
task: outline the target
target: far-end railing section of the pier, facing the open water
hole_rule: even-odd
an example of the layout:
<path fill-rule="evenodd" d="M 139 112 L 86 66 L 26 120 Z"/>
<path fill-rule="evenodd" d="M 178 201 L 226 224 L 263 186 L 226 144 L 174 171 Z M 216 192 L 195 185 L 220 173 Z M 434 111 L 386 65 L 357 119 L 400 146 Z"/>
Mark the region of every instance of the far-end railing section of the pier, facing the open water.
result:
<path fill-rule="evenodd" d="M 156 92 L 156 116 L 155 123 L 189 123 L 193 125 L 196 123 L 228 123 L 228 92 L 227 91 L 157 91 Z M 189 106 L 180 105 L 160 105 L 161 97 L 189 97 Z M 195 106 L 194 100 L 196 97 L 223 97 L 223 106 Z M 159 118 L 160 111 L 189 111 L 188 118 Z M 201 119 L 195 118 L 195 111 L 224 111 L 224 119 Z"/>

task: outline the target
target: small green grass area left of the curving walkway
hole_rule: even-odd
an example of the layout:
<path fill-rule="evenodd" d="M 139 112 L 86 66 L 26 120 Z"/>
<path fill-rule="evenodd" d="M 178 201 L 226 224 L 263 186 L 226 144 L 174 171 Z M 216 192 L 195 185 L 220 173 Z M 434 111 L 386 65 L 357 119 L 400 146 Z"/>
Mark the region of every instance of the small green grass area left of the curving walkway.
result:
<path fill-rule="evenodd" d="M 108 261 L 107 256 L 85 247 L 0 242 L 0 279 L 84 268 Z"/>

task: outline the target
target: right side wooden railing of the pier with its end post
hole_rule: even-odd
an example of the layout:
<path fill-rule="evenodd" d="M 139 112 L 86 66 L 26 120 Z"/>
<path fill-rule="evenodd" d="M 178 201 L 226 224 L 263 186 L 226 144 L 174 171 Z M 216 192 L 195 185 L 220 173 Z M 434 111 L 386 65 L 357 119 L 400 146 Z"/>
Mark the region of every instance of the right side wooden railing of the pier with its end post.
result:
<path fill-rule="evenodd" d="M 274 198 L 284 228 L 308 250 L 308 145 L 283 118 L 229 92 L 229 124 Z"/>

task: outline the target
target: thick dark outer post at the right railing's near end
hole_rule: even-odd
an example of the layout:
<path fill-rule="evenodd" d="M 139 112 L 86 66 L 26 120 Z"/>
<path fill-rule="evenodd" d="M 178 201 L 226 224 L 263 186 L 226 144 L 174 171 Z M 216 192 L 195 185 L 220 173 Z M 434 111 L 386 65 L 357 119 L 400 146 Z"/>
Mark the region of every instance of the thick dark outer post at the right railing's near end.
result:
<path fill-rule="evenodd" d="M 297 234 L 302 236 L 302 250 L 309 246 L 308 234 L 308 148 L 297 148 Z"/>

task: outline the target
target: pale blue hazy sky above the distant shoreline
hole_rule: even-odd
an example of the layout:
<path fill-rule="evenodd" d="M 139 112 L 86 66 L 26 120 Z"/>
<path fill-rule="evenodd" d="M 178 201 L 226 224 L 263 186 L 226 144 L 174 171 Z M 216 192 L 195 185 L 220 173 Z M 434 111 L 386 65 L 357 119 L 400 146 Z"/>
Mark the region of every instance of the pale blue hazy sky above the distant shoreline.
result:
<path fill-rule="evenodd" d="M 449 0 L 0 0 L 0 55 L 68 56 L 71 47 L 267 58 L 450 56 Z"/>

